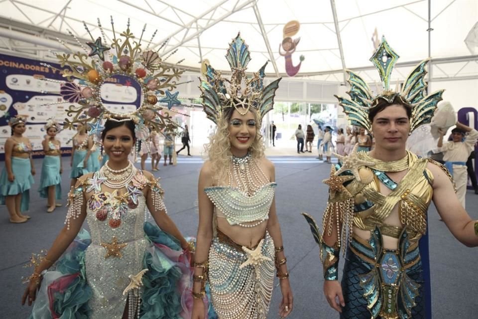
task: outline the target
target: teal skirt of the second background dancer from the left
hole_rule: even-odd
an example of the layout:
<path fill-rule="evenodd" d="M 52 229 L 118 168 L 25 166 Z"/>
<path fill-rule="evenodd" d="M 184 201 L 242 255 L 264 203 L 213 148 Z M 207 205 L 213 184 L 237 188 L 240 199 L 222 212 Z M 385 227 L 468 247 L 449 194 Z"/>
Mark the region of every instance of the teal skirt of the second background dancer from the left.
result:
<path fill-rule="evenodd" d="M 40 186 L 38 192 L 40 197 L 48 198 L 48 187 L 55 187 L 55 198 L 61 199 L 61 175 L 60 175 L 60 156 L 45 155 L 41 164 Z"/>

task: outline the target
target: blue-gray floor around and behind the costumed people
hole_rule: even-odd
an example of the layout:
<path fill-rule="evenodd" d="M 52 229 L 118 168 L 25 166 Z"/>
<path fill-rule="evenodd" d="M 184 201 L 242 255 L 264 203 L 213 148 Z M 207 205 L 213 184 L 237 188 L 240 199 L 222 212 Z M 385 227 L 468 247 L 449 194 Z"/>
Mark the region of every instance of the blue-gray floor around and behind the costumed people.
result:
<path fill-rule="evenodd" d="M 69 167 L 69 159 L 63 159 Z M 321 183 L 330 166 L 313 157 L 273 159 L 278 182 L 277 213 L 281 223 L 285 253 L 294 293 L 294 311 L 289 318 L 332 319 L 337 314 L 328 306 L 322 293 L 322 265 L 318 247 L 313 241 L 300 212 L 306 211 L 320 220 L 326 205 L 327 188 Z M 201 167 L 199 158 L 180 157 L 177 166 L 160 166 L 155 172 L 162 177 L 168 211 L 184 235 L 195 235 L 198 222 L 197 179 Z M 1 163 L 3 166 L 3 163 Z M 35 160 L 40 172 L 41 161 Z M 69 185 L 69 169 L 63 173 L 63 203 Z M 39 174 L 35 181 L 39 182 Z M 46 213 L 46 201 L 31 191 L 31 220 L 25 224 L 8 223 L 5 206 L 0 206 L 0 318 L 27 318 L 29 308 L 20 305 L 24 290 L 20 278 L 31 274 L 23 266 L 31 252 L 48 249 L 63 226 L 66 208 Z M 478 219 L 478 195 L 467 194 L 468 212 Z M 460 244 L 446 226 L 438 221 L 435 208 L 429 211 L 430 252 L 434 319 L 473 319 L 478 310 L 478 250 Z M 278 318 L 280 289 L 274 291 L 268 318 Z M 473 315 L 475 313 L 475 315 Z"/>

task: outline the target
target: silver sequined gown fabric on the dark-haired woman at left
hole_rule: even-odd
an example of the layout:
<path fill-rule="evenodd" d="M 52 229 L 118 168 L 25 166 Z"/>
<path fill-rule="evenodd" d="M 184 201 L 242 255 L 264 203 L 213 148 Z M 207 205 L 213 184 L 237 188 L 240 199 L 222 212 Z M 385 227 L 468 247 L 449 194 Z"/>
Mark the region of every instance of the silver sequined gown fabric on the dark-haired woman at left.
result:
<path fill-rule="evenodd" d="M 121 319 L 127 298 L 122 292 L 129 284 L 128 276 L 136 275 L 142 269 L 147 245 L 143 231 L 146 200 L 144 196 L 138 196 L 138 201 L 136 208 L 121 216 L 121 224 L 117 228 L 110 227 L 108 219 L 98 220 L 95 213 L 87 208 L 92 239 L 85 256 L 87 281 L 93 290 L 89 301 L 93 311 L 90 319 Z M 127 245 L 120 250 L 122 257 L 105 258 L 108 250 L 100 244 L 110 244 L 114 236 L 118 243 Z"/>

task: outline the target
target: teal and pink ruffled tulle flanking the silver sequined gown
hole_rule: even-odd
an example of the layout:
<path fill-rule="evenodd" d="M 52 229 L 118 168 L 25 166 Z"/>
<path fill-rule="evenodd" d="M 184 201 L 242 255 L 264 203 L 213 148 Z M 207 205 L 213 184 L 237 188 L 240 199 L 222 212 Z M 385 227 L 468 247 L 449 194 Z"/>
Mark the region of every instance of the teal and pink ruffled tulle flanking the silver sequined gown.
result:
<path fill-rule="evenodd" d="M 157 226 L 146 222 L 143 229 L 147 245 L 142 268 L 148 271 L 142 278 L 139 318 L 191 318 L 193 298 L 189 256 L 174 237 Z M 91 271 L 86 269 L 86 250 L 90 244 L 90 235 L 82 230 L 45 274 L 29 319 L 97 318 L 91 307 L 95 293 L 87 278 L 87 273 Z M 122 290 L 117 293 L 121 294 Z M 205 306 L 208 309 L 209 305 Z M 120 307 L 122 314 L 125 304 Z M 211 314 L 209 319 L 217 318 L 214 312 Z M 116 317 L 109 316 L 108 319 Z"/>

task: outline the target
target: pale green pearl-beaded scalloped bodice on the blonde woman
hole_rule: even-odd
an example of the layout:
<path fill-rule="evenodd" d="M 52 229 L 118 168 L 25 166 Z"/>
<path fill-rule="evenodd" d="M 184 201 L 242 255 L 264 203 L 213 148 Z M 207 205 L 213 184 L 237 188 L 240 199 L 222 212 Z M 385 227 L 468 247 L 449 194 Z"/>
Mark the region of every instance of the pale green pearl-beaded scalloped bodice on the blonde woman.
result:
<path fill-rule="evenodd" d="M 243 223 L 260 223 L 269 218 L 276 186 L 275 182 L 264 184 L 251 196 L 232 186 L 211 186 L 204 191 L 217 208 L 217 217 L 226 218 L 230 225 L 251 227 L 255 225 Z"/>

